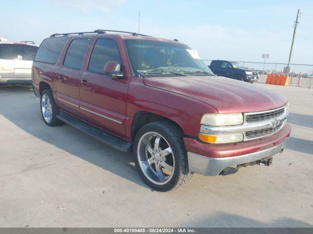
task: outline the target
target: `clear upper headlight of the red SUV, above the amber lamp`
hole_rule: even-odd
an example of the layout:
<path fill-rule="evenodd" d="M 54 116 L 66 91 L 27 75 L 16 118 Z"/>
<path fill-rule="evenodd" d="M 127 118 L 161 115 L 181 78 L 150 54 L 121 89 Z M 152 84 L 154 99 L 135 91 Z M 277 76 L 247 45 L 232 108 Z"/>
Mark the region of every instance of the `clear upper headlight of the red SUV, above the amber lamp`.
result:
<path fill-rule="evenodd" d="M 204 114 L 201 124 L 209 126 L 239 125 L 244 122 L 242 113 L 237 114 Z"/>

